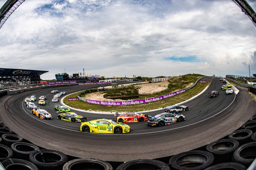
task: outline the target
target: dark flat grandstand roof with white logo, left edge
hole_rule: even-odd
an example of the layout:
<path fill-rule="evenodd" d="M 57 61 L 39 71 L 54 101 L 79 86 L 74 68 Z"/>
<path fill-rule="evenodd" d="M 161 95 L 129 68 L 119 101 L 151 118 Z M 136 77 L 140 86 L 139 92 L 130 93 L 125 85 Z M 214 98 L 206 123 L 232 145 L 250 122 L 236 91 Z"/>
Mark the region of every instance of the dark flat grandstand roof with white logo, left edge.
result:
<path fill-rule="evenodd" d="M 0 77 L 29 77 L 29 76 L 40 76 L 45 72 L 42 70 L 26 70 L 18 68 L 0 68 Z"/>

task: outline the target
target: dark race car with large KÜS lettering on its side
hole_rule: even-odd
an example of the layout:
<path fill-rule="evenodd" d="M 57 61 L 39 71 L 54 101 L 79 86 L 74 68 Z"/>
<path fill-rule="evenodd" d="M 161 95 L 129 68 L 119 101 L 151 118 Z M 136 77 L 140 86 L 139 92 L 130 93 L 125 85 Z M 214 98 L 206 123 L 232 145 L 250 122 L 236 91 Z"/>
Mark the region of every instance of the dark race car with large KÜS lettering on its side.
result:
<path fill-rule="evenodd" d="M 148 116 L 148 122 L 147 125 L 153 127 L 153 126 L 163 126 L 163 125 L 168 125 L 172 123 L 177 123 L 185 120 L 184 115 L 178 115 L 178 114 L 173 114 L 173 113 L 160 113 L 159 115 L 155 116 Z"/>

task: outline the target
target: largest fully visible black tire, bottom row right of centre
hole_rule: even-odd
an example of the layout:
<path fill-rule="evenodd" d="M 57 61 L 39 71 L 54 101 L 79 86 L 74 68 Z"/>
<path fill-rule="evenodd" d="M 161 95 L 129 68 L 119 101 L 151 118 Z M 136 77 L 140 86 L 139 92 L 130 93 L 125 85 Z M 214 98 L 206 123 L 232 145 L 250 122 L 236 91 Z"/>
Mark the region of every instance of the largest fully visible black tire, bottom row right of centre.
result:
<path fill-rule="evenodd" d="M 192 150 L 178 153 L 169 160 L 170 166 L 175 170 L 203 170 L 212 165 L 214 156 L 212 153 Z"/>

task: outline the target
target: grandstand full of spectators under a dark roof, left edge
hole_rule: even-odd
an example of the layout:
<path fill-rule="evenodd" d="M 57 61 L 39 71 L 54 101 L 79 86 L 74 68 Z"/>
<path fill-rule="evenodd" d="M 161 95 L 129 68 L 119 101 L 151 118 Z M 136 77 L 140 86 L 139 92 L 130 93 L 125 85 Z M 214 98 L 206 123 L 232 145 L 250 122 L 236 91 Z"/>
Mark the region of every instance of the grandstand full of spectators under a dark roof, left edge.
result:
<path fill-rule="evenodd" d="M 0 68 L 0 89 L 40 84 L 40 75 L 48 71 Z"/>

